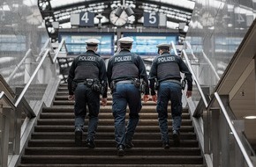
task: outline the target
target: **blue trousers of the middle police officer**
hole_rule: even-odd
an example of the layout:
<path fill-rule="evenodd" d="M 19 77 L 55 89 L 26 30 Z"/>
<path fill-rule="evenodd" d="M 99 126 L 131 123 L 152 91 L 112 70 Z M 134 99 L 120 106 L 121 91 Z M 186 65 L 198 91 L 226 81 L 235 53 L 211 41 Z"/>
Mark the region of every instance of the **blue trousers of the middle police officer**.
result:
<path fill-rule="evenodd" d="M 115 118 L 115 139 L 117 147 L 132 141 L 135 128 L 139 122 L 139 111 L 141 110 L 141 97 L 139 89 L 131 83 L 117 83 L 113 97 L 113 116 Z M 130 109 L 128 125 L 125 132 L 125 114 L 127 104 Z M 126 133 L 126 134 L 125 134 Z"/>

